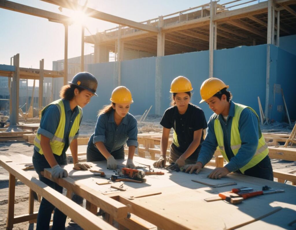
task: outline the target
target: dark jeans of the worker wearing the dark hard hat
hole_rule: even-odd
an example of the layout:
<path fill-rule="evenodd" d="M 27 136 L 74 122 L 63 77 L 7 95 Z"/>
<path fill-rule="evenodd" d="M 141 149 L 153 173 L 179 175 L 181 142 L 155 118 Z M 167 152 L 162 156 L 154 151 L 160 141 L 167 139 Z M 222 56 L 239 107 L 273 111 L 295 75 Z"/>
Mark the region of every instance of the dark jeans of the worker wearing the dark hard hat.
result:
<path fill-rule="evenodd" d="M 59 165 L 67 165 L 65 153 L 63 153 L 61 156 L 54 154 L 54 157 L 57 160 L 57 163 Z M 39 180 L 47 184 L 49 187 L 53 188 L 54 190 L 58 191 L 59 193 L 62 193 L 63 192 L 62 186 L 59 186 L 58 184 L 54 183 L 53 181 L 45 178 L 40 174 L 40 172 L 44 171 L 44 168 L 50 168 L 50 165 L 45 159 L 44 155 L 41 155 L 34 150 L 32 161 L 33 161 L 35 171 L 39 175 Z M 53 217 L 52 230 L 65 229 L 67 216 L 64 213 L 62 213 L 60 210 L 55 208 L 54 205 L 52 205 L 48 200 L 42 197 L 39 211 L 38 211 L 38 216 L 37 216 L 36 230 L 49 229 L 49 223 L 50 223 L 53 210 L 54 210 L 54 217 Z"/>

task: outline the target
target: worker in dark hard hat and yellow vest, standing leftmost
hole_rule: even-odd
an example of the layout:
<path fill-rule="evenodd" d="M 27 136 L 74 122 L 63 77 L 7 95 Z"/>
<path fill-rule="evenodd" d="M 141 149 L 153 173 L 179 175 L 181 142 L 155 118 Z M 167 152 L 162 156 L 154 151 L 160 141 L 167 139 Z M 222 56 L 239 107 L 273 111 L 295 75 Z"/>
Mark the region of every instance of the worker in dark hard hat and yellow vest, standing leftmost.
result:
<path fill-rule="evenodd" d="M 76 74 L 70 85 L 60 91 L 60 97 L 47 105 L 41 112 L 40 126 L 34 140 L 33 165 L 39 180 L 62 193 L 63 187 L 41 175 L 44 168 L 52 168 L 53 178 L 67 177 L 68 173 L 60 165 L 67 165 L 66 151 L 70 146 L 75 169 L 87 170 L 89 165 L 80 163 L 77 156 L 77 138 L 82 119 L 82 108 L 96 95 L 96 78 L 87 72 Z M 97 95 L 96 95 L 97 96 Z M 67 216 L 42 198 L 36 229 L 49 229 L 54 210 L 52 230 L 65 229 Z"/>

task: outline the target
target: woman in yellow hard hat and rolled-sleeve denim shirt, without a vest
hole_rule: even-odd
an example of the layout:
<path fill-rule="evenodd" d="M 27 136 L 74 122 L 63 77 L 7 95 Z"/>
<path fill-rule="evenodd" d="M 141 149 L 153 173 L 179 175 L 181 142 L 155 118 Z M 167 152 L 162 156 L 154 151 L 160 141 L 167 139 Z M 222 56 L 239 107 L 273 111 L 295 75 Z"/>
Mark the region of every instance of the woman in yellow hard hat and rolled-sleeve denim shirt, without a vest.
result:
<path fill-rule="evenodd" d="M 91 135 L 86 150 L 86 159 L 100 161 L 107 159 L 107 168 L 116 169 L 115 159 L 124 159 L 124 144 L 128 146 L 127 168 L 135 168 L 133 155 L 138 147 L 137 120 L 128 111 L 133 99 L 131 92 L 118 86 L 112 92 L 110 105 L 99 111 L 94 134 Z"/>

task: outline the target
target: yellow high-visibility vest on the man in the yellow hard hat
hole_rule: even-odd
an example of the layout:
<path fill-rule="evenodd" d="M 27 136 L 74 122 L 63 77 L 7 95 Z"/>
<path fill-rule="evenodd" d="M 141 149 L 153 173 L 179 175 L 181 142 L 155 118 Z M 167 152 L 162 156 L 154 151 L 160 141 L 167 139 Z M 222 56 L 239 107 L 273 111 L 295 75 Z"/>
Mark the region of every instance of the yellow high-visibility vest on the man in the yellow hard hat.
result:
<path fill-rule="evenodd" d="M 242 104 L 237 104 L 237 103 L 234 103 L 234 104 L 235 104 L 234 117 L 232 118 L 231 133 L 230 133 L 230 147 L 231 147 L 231 150 L 235 156 L 235 155 L 237 155 L 239 148 L 241 147 L 241 144 L 242 144 L 242 140 L 240 139 L 240 134 L 239 134 L 239 118 L 240 118 L 242 111 L 245 108 L 248 108 L 253 113 L 255 113 L 255 115 L 257 116 L 257 119 L 258 119 L 258 124 L 259 124 L 259 117 L 258 117 L 257 113 L 255 112 L 255 110 L 253 110 L 252 108 L 247 107 Z M 214 121 L 214 129 L 215 129 L 215 135 L 216 135 L 216 139 L 218 142 L 218 146 L 219 146 L 219 149 L 222 153 L 222 156 L 227 160 L 227 162 L 229 162 L 229 159 L 227 158 L 226 152 L 225 152 L 223 131 L 222 131 L 222 126 L 221 126 L 220 120 L 218 119 L 218 116 L 216 116 L 215 121 Z M 258 129 L 260 129 L 259 125 L 258 125 Z M 259 138 L 258 147 L 255 152 L 255 155 L 252 157 L 252 159 L 249 161 L 249 163 L 244 165 L 239 170 L 242 173 L 244 173 L 244 171 L 246 171 L 247 169 L 252 168 L 253 166 L 257 165 L 261 160 L 263 160 L 264 157 L 266 157 L 267 154 L 268 154 L 268 146 L 265 142 L 263 135 L 261 135 L 261 137 Z"/>

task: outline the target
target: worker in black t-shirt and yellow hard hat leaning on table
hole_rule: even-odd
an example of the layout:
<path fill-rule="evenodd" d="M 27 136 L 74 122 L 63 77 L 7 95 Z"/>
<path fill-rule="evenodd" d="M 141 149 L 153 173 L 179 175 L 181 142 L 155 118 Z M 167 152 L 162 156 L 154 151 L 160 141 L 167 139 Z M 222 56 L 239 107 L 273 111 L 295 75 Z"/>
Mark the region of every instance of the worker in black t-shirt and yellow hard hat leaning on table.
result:
<path fill-rule="evenodd" d="M 207 122 L 202 109 L 190 103 L 192 89 L 191 82 L 183 76 L 176 77 L 171 83 L 172 107 L 165 111 L 160 121 L 163 134 L 160 140 L 160 158 L 153 163 L 155 167 L 165 167 L 171 128 L 174 134 L 168 162 L 182 167 L 197 160 Z"/>

